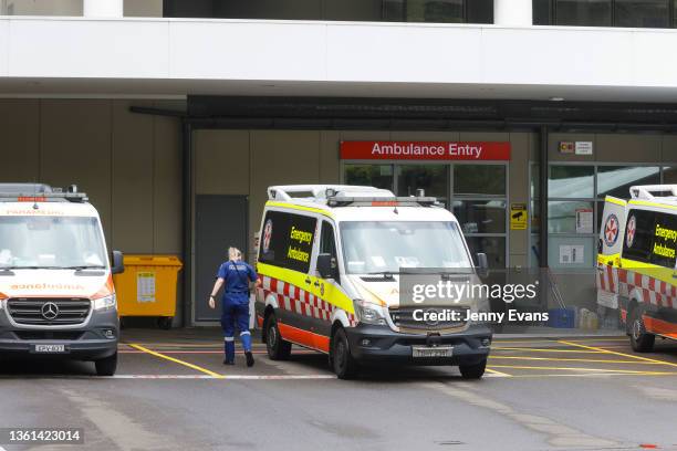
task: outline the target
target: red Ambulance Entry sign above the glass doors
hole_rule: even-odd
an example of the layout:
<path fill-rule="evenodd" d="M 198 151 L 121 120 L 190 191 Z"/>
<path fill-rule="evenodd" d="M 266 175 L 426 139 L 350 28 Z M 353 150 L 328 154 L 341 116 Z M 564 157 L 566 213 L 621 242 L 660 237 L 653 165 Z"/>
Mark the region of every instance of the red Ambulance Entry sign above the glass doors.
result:
<path fill-rule="evenodd" d="M 341 159 L 509 160 L 510 143 L 342 141 Z"/>

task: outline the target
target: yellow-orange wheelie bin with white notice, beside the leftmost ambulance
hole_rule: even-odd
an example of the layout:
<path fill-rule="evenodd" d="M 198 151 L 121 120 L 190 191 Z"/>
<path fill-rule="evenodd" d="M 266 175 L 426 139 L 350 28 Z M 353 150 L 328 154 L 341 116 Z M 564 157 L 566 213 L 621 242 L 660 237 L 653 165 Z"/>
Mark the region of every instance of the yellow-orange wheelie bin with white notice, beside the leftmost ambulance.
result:
<path fill-rule="evenodd" d="M 125 316 L 156 316 L 171 328 L 176 315 L 176 284 L 183 263 L 176 255 L 125 255 L 125 272 L 115 274 L 117 310 Z"/>

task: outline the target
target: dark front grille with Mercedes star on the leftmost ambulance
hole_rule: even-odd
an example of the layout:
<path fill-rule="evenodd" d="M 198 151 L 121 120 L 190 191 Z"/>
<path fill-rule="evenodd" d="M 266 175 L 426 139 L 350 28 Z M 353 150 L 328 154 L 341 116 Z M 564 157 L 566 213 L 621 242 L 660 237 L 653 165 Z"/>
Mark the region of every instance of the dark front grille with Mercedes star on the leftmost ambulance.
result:
<path fill-rule="evenodd" d="M 45 308 L 46 304 L 52 305 Z M 7 311 L 14 323 L 31 326 L 82 324 L 91 308 L 92 301 L 86 298 L 14 297 L 7 301 Z"/>

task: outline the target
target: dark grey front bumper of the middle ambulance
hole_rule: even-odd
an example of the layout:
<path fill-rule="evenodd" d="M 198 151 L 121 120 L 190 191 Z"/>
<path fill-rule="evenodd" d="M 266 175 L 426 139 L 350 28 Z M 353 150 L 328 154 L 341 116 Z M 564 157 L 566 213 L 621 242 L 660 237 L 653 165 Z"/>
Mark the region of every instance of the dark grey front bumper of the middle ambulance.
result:
<path fill-rule="evenodd" d="M 402 365 L 475 365 L 489 356 L 491 329 L 470 326 L 455 334 L 402 334 L 385 326 L 358 325 L 346 329 L 356 360 Z M 450 347 L 450 357 L 414 357 L 414 348 Z"/>

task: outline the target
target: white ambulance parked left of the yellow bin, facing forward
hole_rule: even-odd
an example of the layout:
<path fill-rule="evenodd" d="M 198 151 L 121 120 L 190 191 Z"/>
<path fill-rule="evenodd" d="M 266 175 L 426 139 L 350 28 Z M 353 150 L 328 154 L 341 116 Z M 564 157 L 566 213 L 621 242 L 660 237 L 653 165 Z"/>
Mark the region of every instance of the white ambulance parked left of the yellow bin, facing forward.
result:
<path fill-rule="evenodd" d="M 119 323 L 98 213 L 75 186 L 0 183 L 0 359 L 94 361 L 117 367 Z"/>

